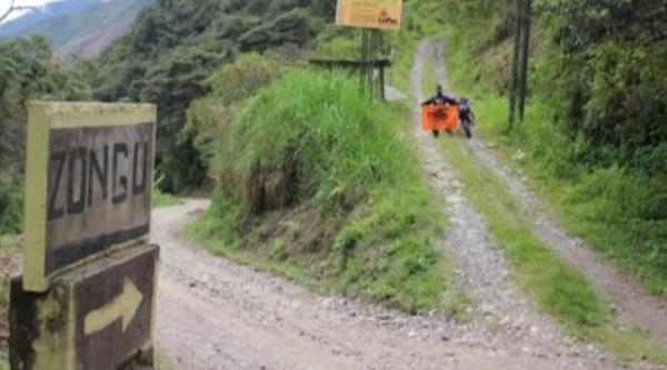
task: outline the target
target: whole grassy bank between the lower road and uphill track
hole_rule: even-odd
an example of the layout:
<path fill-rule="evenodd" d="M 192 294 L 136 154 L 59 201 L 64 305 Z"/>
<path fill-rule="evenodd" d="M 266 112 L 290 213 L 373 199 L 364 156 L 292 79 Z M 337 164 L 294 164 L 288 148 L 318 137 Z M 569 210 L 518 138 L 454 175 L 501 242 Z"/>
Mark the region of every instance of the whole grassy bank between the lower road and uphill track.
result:
<path fill-rule="evenodd" d="M 217 162 L 233 180 L 222 182 L 191 234 L 318 291 L 409 312 L 444 308 L 447 263 L 431 246 L 446 219 L 419 171 L 408 121 L 405 107 L 359 99 L 356 80 L 290 73 L 251 99 L 225 133 Z M 299 161 L 299 201 L 251 214 L 243 192 L 261 179 L 267 188 L 280 183 L 271 169 L 283 168 L 286 153 Z M 252 181 L 257 163 L 263 174 Z"/>

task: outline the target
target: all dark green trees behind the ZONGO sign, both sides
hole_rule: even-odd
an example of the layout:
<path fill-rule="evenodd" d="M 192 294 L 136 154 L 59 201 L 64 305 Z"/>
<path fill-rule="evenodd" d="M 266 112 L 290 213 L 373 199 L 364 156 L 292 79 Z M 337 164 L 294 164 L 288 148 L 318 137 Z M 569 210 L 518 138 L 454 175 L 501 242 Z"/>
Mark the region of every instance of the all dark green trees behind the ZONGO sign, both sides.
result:
<path fill-rule="evenodd" d="M 199 187 L 207 154 L 182 129 L 190 103 L 211 90 L 209 76 L 241 52 L 299 58 L 334 10 L 325 0 L 156 1 L 99 59 L 62 66 L 43 38 L 0 42 L 0 233 L 20 224 L 28 99 L 157 103 L 160 187 Z"/>

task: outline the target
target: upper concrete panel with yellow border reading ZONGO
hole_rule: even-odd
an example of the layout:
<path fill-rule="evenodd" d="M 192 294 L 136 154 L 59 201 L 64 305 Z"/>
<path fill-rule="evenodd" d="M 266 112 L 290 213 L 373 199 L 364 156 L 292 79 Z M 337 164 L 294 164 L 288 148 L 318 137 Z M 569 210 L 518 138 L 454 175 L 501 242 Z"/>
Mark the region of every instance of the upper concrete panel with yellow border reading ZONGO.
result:
<path fill-rule="evenodd" d="M 29 104 L 23 286 L 111 247 L 146 242 L 156 107 Z"/>

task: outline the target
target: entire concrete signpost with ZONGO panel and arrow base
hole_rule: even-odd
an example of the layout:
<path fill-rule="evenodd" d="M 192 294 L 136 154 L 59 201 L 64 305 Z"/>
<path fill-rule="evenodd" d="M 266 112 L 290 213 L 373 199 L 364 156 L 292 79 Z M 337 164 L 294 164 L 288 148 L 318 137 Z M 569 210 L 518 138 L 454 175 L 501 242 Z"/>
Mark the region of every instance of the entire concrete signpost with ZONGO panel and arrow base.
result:
<path fill-rule="evenodd" d="M 155 130 L 155 106 L 29 104 L 12 369 L 152 366 Z"/>

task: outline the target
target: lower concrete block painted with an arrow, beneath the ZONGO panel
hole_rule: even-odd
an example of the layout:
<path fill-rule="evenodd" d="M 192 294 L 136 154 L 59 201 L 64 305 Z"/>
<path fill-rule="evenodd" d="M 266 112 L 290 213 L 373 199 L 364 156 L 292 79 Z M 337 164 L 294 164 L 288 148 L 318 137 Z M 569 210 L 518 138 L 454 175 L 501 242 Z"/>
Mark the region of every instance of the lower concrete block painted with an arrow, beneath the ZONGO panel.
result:
<path fill-rule="evenodd" d="M 156 246 L 118 250 L 62 274 L 43 293 L 12 280 L 11 368 L 152 366 L 158 254 Z"/>

